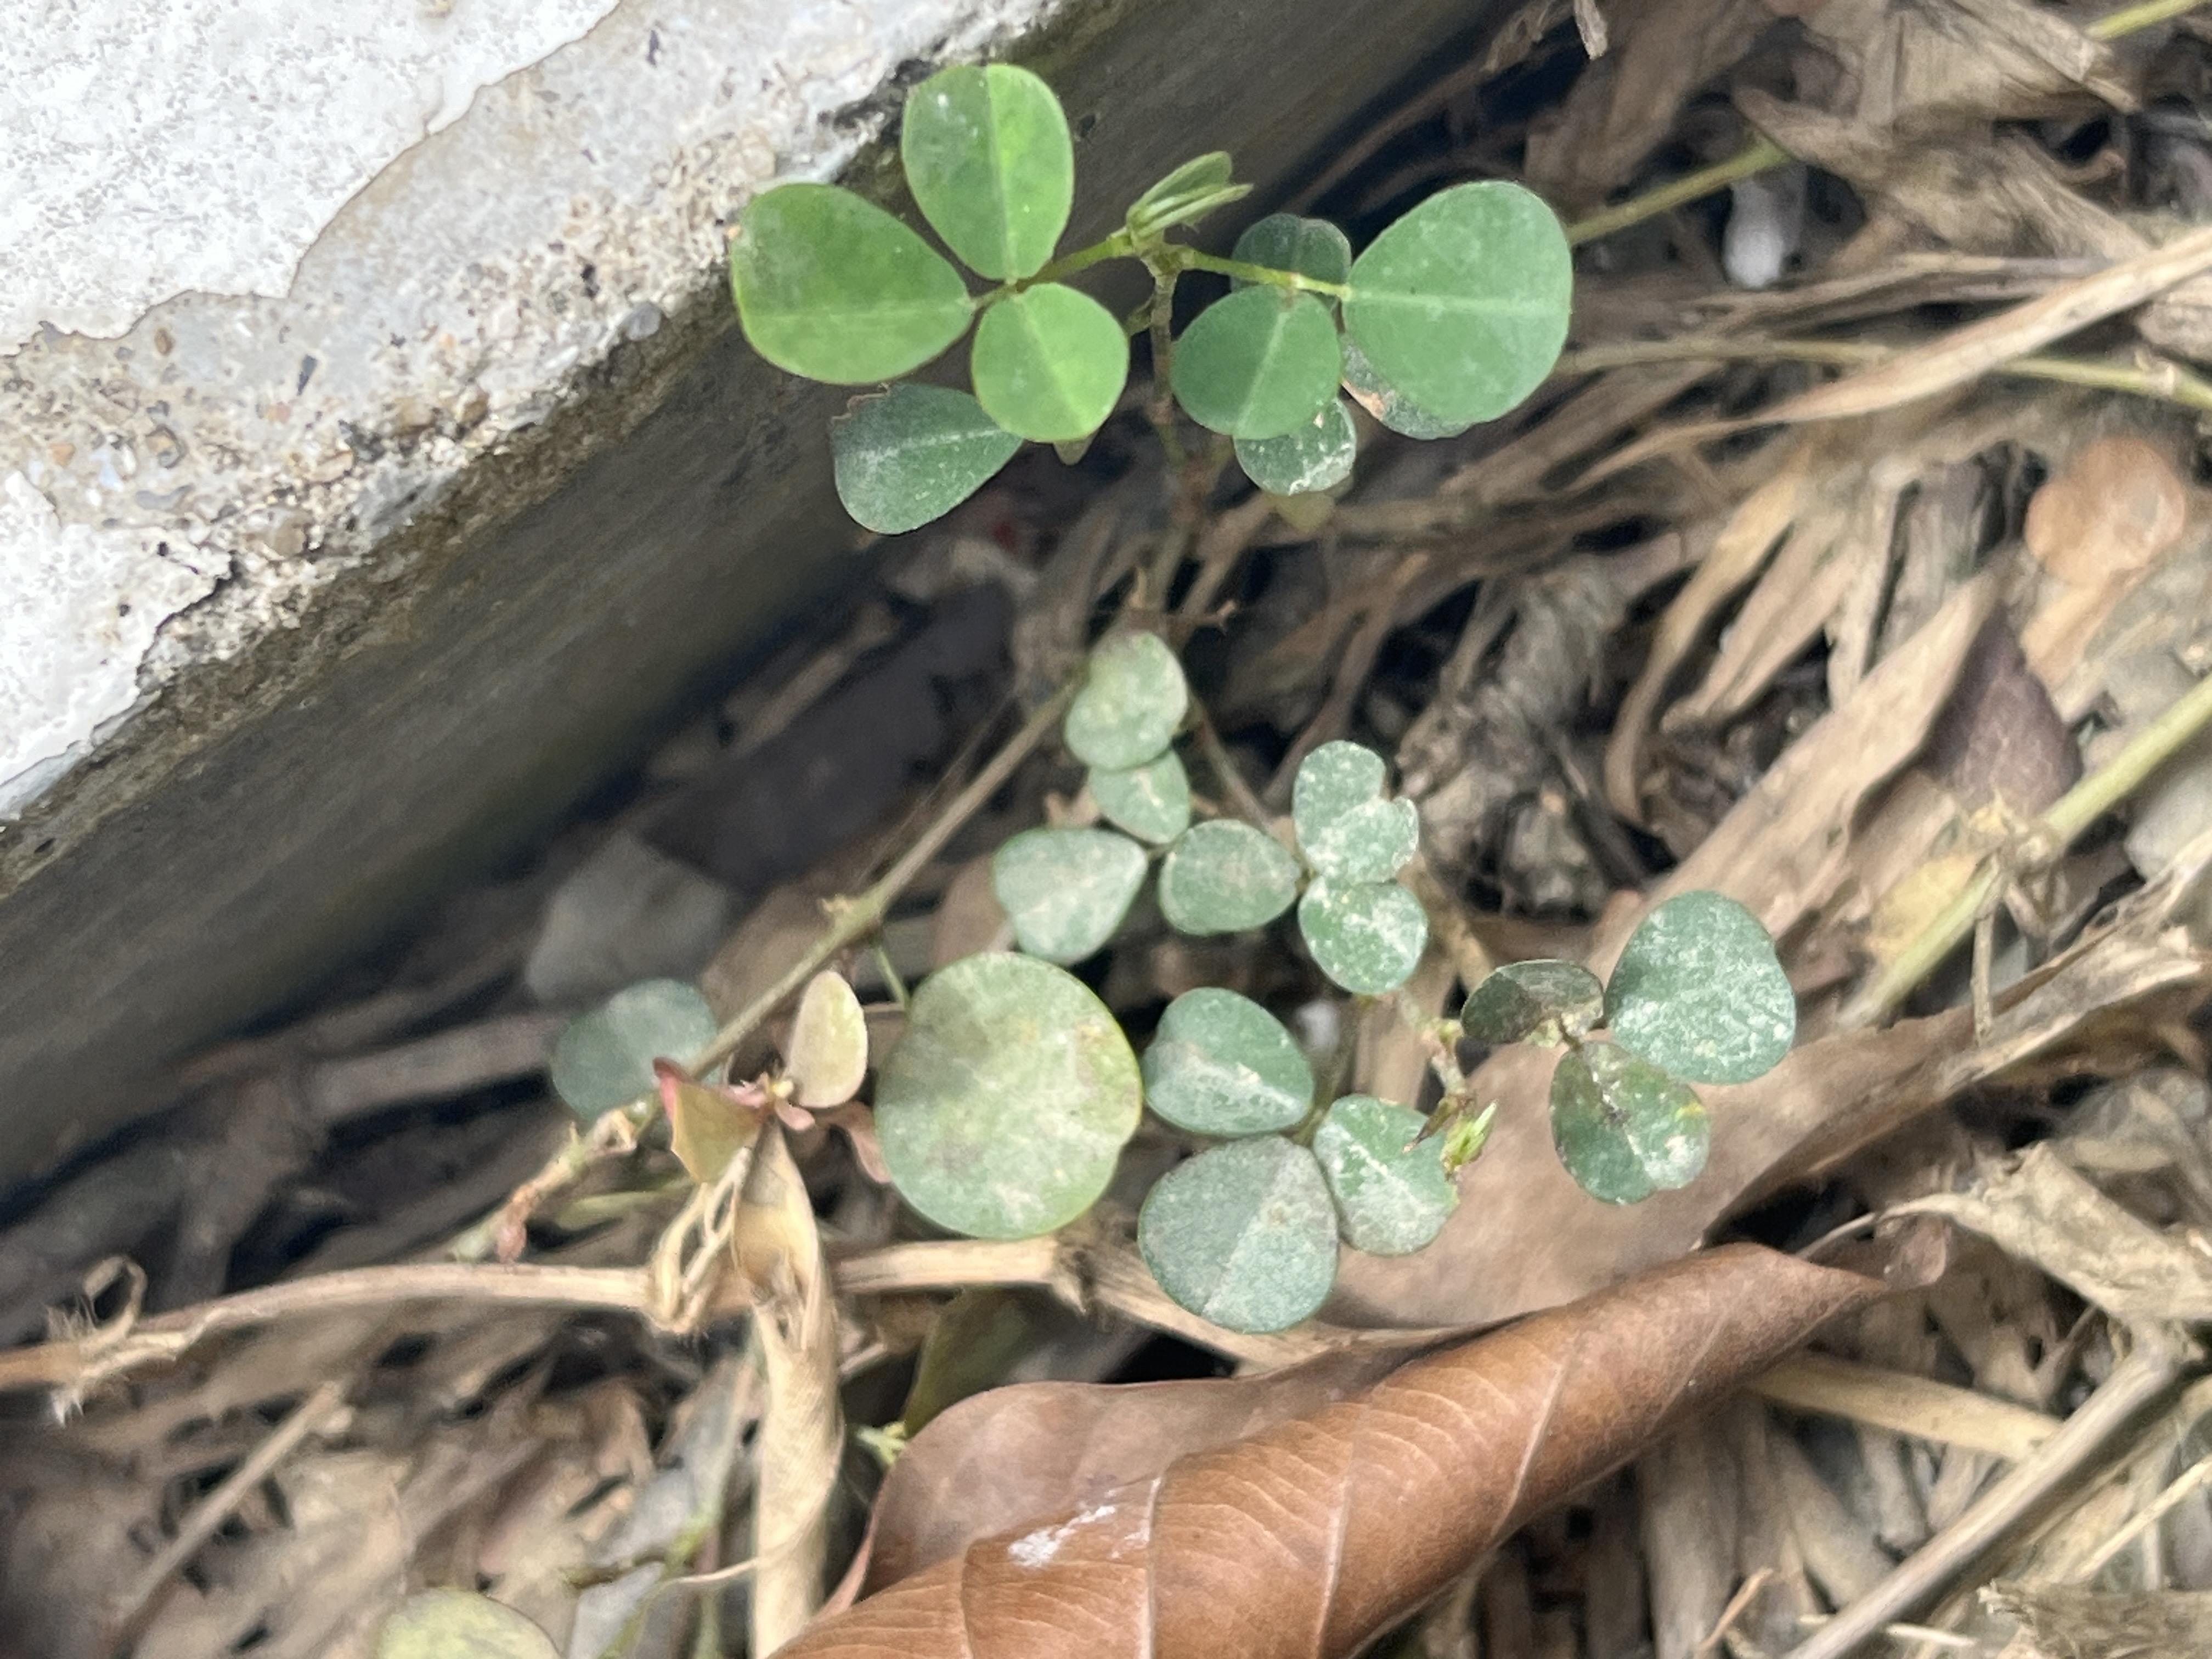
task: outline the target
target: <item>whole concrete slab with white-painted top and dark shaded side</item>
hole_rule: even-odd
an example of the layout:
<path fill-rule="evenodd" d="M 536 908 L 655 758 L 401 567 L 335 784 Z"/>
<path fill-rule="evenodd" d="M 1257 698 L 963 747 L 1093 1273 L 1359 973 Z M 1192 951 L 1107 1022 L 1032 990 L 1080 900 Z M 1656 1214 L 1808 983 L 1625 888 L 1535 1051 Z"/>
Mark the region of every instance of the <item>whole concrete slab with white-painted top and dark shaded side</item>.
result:
<path fill-rule="evenodd" d="M 854 546 L 723 226 L 902 82 L 1062 91 L 1077 234 L 1325 157 L 1467 0 L 33 7 L 0 190 L 0 1183 L 542 825 Z M 24 93 L 22 88 L 29 88 Z M 27 102 L 24 102 L 27 100 Z"/>

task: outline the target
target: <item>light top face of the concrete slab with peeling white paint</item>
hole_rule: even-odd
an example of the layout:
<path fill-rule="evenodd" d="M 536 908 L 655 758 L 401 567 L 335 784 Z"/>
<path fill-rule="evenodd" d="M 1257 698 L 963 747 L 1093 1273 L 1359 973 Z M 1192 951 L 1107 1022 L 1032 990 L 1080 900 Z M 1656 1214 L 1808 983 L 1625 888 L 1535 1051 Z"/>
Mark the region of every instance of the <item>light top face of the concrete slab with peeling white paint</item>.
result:
<path fill-rule="evenodd" d="M 1051 4 L 0 0 L 0 827 Z"/>

